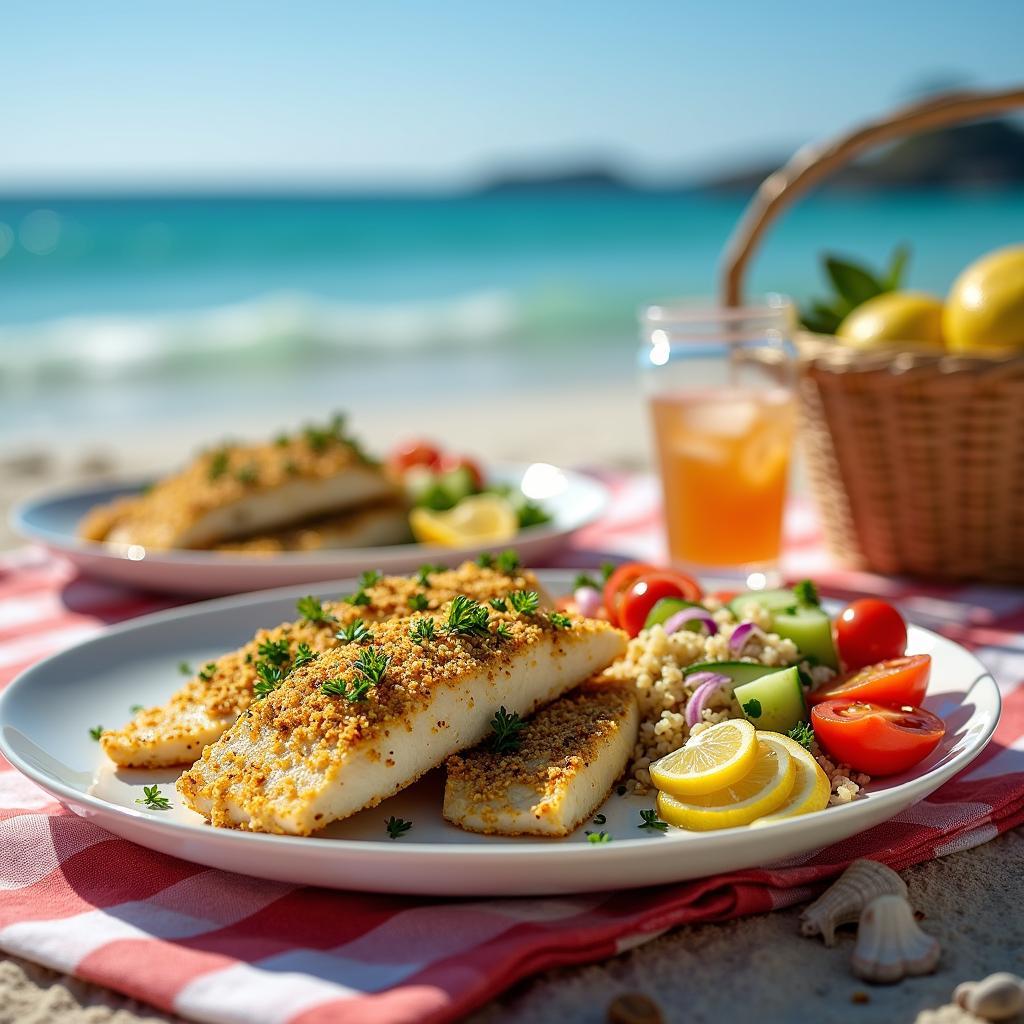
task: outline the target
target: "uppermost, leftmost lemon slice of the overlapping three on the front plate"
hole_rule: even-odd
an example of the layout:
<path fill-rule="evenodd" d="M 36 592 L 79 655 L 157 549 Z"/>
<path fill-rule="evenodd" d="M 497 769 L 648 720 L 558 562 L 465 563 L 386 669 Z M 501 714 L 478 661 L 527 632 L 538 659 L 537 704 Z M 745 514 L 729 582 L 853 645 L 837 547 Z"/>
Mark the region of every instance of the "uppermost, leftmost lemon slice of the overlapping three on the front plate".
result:
<path fill-rule="evenodd" d="M 757 729 L 745 719 L 719 722 L 655 761 L 650 777 L 677 797 L 712 793 L 741 779 L 758 758 Z"/>

